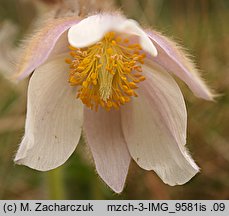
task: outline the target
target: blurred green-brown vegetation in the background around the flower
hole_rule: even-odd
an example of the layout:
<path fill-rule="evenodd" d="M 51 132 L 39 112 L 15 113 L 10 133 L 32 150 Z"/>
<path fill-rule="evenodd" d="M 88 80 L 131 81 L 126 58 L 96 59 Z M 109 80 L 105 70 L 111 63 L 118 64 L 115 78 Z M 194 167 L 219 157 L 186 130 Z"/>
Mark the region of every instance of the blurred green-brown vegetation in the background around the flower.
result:
<path fill-rule="evenodd" d="M 28 31 L 36 15 L 32 1 L 0 0 L 0 24 L 13 21 Z M 220 97 L 195 98 L 179 81 L 188 108 L 188 147 L 201 173 L 183 186 L 170 187 L 132 162 L 127 185 L 114 194 L 98 178 L 81 142 L 60 168 L 67 199 L 229 199 L 229 1 L 117 0 L 126 16 L 160 30 L 184 45 Z M 0 199 L 49 199 L 48 176 L 13 163 L 23 136 L 27 81 L 14 85 L 0 77 Z"/>

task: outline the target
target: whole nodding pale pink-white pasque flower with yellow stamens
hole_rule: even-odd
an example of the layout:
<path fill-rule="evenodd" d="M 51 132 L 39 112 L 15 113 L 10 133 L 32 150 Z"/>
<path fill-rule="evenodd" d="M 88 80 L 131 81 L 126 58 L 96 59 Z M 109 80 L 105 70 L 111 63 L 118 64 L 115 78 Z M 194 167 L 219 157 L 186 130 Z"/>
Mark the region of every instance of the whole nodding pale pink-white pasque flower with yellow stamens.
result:
<path fill-rule="evenodd" d="M 118 14 L 52 20 L 28 42 L 17 77 L 32 72 L 16 163 L 54 169 L 84 131 L 98 174 L 115 192 L 123 190 L 131 158 L 169 185 L 199 171 L 185 148 L 187 112 L 170 73 L 196 96 L 212 94 L 161 34 Z"/>

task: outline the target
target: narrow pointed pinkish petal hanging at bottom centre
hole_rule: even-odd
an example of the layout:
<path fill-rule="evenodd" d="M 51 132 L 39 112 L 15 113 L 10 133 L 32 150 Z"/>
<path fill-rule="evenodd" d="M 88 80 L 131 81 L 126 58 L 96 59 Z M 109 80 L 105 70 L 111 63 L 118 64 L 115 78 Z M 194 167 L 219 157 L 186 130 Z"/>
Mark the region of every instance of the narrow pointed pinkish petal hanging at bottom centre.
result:
<path fill-rule="evenodd" d="M 120 112 L 85 109 L 84 131 L 96 170 L 116 193 L 123 190 L 130 155 L 121 129 Z"/>

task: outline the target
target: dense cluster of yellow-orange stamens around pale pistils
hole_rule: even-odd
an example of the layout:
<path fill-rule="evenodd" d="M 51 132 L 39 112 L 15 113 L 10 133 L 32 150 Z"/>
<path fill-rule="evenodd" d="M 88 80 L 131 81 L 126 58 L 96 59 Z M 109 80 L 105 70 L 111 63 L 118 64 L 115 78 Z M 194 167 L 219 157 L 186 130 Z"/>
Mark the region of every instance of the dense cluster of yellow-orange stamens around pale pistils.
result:
<path fill-rule="evenodd" d="M 145 80 L 141 64 L 145 54 L 139 44 L 130 44 L 114 32 L 87 48 L 71 47 L 69 83 L 79 86 L 77 98 L 92 110 L 101 106 L 119 109 L 137 97 L 137 83 Z"/>

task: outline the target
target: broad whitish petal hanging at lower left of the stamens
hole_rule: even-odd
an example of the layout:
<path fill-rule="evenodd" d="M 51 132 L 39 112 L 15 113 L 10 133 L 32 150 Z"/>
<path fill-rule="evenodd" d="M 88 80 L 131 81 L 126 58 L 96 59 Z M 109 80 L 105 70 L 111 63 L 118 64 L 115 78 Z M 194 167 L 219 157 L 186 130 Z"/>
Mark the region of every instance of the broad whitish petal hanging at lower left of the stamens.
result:
<path fill-rule="evenodd" d="M 30 79 L 17 164 L 41 171 L 54 169 L 70 157 L 80 139 L 83 105 L 68 84 L 64 57 L 40 66 Z"/>

